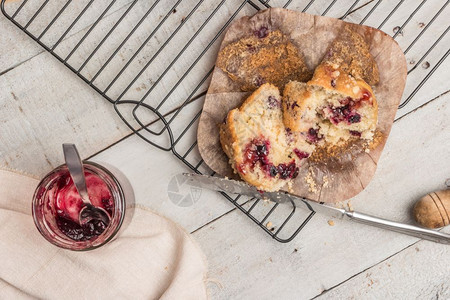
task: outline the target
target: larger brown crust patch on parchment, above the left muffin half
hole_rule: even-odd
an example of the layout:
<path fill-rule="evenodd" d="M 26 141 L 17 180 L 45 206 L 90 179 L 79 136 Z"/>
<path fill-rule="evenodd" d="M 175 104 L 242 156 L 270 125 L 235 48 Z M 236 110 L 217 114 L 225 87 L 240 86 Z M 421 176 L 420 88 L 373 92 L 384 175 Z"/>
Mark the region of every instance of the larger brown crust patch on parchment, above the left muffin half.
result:
<path fill-rule="evenodd" d="M 312 75 L 289 38 L 265 27 L 224 47 L 216 65 L 243 91 L 254 91 L 264 83 L 282 90 L 290 80 L 305 82 Z"/>

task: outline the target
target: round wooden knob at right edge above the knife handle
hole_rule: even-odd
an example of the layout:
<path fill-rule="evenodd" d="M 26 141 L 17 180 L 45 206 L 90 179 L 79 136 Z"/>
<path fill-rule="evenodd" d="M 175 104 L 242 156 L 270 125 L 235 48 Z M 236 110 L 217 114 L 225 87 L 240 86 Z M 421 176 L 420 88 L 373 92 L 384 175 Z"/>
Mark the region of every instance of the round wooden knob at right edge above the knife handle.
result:
<path fill-rule="evenodd" d="M 414 205 L 414 218 L 427 228 L 450 224 L 450 189 L 429 193 Z"/>

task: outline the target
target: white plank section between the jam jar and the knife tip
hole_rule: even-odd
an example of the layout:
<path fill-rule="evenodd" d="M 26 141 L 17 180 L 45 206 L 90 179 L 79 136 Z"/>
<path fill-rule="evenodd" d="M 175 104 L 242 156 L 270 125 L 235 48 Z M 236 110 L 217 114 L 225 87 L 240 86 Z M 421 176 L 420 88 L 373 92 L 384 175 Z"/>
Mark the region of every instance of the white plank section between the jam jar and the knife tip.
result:
<path fill-rule="evenodd" d="M 173 154 L 155 149 L 132 136 L 96 155 L 93 161 L 122 171 L 134 189 L 136 203 L 145 205 L 193 231 L 232 209 L 231 203 L 209 190 L 184 182 L 189 172 Z M 257 229 L 255 229 L 257 230 Z"/>

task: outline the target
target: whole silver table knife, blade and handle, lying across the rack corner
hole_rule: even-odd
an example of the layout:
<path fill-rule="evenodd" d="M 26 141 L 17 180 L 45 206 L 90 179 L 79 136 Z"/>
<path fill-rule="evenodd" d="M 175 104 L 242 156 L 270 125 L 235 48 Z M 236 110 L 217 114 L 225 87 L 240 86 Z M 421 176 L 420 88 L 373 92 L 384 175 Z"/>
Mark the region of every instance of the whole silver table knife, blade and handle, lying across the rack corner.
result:
<path fill-rule="evenodd" d="M 407 234 L 437 243 L 450 244 L 450 234 L 446 234 L 443 232 L 390 221 L 356 211 L 345 210 L 343 208 L 332 207 L 313 200 L 297 197 L 284 191 L 259 191 L 256 187 L 242 181 L 191 173 L 183 173 L 183 175 L 186 176 L 188 181 L 190 181 L 192 184 L 195 184 L 196 186 L 199 186 L 201 188 L 231 194 L 246 195 L 255 197 L 257 199 L 269 199 L 277 203 L 290 202 L 295 206 L 305 208 L 311 212 L 324 214 L 333 218 L 348 219 L 358 223 Z"/>

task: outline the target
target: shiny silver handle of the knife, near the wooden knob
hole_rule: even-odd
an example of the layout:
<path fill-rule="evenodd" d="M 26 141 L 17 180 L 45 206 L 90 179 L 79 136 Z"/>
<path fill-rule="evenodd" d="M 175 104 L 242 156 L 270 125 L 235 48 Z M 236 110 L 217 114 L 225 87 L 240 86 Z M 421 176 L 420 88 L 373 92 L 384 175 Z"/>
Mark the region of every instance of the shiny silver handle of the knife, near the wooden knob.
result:
<path fill-rule="evenodd" d="M 394 221 L 389 221 L 382 218 L 377 218 L 374 216 L 366 215 L 363 213 L 358 213 L 354 211 L 346 211 L 345 215 L 352 221 L 367 224 L 391 231 L 396 231 L 399 233 L 407 234 L 410 236 L 418 237 L 424 240 L 429 240 L 441 244 L 450 244 L 450 234 L 443 232 L 421 228 L 414 225 L 408 225 L 404 223 L 398 223 Z"/>

